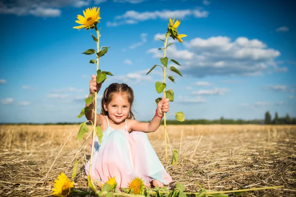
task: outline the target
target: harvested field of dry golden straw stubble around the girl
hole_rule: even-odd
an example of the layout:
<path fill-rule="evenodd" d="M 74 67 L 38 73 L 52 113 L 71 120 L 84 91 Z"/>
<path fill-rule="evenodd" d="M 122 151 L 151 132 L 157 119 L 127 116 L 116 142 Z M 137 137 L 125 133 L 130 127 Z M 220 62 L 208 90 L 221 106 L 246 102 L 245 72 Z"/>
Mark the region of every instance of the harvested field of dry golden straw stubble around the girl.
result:
<path fill-rule="evenodd" d="M 83 142 L 76 138 L 78 129 L 79 125 L 0 126 L 0 196 L 47 196 L 60 172 L 71 177 L 74 164 L 67 168 Z M 181 182 L 187 192 L 197 192 L 196 183 L 211 191 L 284 186 L 242 196 L 296 196 L 296 126 L 169 125 L 167 131 L 179 152 L 177 166 L 165 159 L 163 126 L 148 137 L 174 180 L 168 187 Z M 87 187 L 83 163 L 89 144 L 87 139 L 77 156 L 77 187 Z"/>

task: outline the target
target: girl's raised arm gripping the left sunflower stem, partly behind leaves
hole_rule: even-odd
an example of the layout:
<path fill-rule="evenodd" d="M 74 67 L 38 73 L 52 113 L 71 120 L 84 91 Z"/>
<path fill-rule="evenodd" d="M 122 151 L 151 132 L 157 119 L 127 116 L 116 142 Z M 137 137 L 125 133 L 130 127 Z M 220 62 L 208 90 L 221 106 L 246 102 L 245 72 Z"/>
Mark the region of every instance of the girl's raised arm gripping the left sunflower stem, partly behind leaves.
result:
<path fill-rule="evenodd" d="M 96 77 L 96 75 L 93 74 L 91 76 L 91 80 L 89 82 L 89 97 L 91 97 L 93 93 L 99 92 L 101 87 L 102 87 L 102 83 L 98 84 L 97 83 L 97 77 Z M 85 107 L 88 106 L 90 109 L 92 109 L 92 110 L 88 111 L 85 114 L 86 119 L 89 120 L 89 121 L 92 121 L 92 122 L 94 122 L 94 103 L 95 103 L 94 100 L 95 99 L 93 99 L 93 101 L 90 104 L 85 105 Z M 102 118 L 103 118 L 103 115 L 97 114 L 97 123 L 96 123 L 96 125 L 102 125 L 102 121 L 103 121 Z"/>

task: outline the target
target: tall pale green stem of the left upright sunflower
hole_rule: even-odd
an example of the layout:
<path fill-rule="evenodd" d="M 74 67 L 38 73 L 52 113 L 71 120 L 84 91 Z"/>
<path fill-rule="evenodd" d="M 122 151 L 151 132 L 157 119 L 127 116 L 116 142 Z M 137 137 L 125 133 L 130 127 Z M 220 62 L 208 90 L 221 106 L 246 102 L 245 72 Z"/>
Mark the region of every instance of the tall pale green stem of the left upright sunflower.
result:
<path fill-rule="evenodd" d="M 99 52 L 100 48 L 100 32 L 98 31 L 97 27 L 95 27 L 96 33 L 97 33 L 97 53 Z M 97 71 L 99 69 L 99 57 L 97 55 Z M 96 72 L 97 75 L 97 72 Z M 92 159 L 93 159 L 93 150 L 95 146 L 95 137 L 96 137 L 96 125 L 97 125 L 97 92 L 95 92 L 95 115 L 94 115 L 94 122 L 93 122 L 93 133 L 92 133 L 92 143 L 91 143 L 91 153 L 90 153 L 90 162 L 89 162 L 89 174 L 91 174 L 91 165 L 92 165 Z"/>

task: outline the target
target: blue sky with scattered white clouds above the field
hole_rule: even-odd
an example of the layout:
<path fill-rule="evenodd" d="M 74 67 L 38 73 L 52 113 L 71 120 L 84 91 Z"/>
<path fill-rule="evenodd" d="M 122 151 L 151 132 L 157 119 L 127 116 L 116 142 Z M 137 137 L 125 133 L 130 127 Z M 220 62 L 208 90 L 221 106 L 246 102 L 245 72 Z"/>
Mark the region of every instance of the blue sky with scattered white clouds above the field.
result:
<path fill-rule="evenodd" d="M 183 77 L 170 112 L 185 119 L 296 117 L 296 17 L 293 0 L 4 0 L 0 2 L 0 122 L 82 122 L 96 48 L 94 30 L 73 29 L 77 14 L 99 6 L 100 45 L 111 47 L 100 69 L 135 92 L 137 120 L 153 117 L 162 81 L 162 41 L 170 17 L 184 43 L 168 47 Z M 169 66 L 174 66 L 169 64 Z M 99 99 L 100 101 L 100 99 Z M 100 110 L 100 107 L 98 107 Z M 170 116 L 173 118 L 173 116 Z M 170 119 L 170 118 L 169 118 Z"/>

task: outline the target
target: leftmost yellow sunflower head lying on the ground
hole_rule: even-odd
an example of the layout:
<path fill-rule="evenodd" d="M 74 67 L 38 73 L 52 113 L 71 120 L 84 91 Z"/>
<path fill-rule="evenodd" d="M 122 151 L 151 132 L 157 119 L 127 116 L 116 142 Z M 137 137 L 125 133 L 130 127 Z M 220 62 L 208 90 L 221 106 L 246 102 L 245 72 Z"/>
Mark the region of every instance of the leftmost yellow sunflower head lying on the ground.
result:
<path fill-rule="evenodd" d="M 54 189 L 52 189 L 54 193 L 52 195 L 57 197 L 67 197 L 71 192 L 71 188 L 74 188 L 74 182 L 71 182 L 63 172 L 58 176 L 58 180 L 54 180 L 54 182 Z"/>

